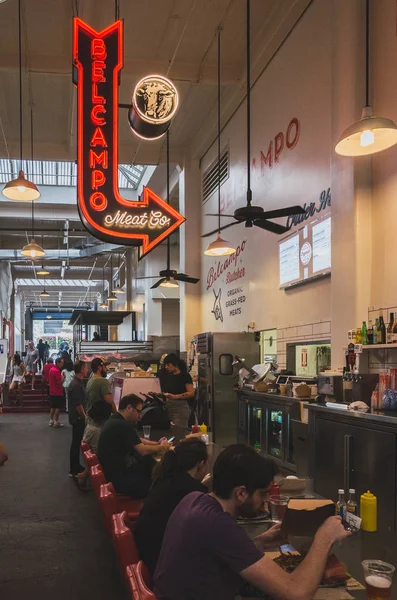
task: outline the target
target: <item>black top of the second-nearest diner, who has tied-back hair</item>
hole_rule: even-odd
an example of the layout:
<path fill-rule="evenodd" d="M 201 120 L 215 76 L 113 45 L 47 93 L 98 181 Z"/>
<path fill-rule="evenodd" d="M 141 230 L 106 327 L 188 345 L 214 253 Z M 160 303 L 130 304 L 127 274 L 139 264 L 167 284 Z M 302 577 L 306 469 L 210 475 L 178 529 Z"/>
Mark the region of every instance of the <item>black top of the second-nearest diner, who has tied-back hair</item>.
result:
<path fill-rule="evenodd" d="M 190 492 L 208 492 L 208 489 L 185 471 L 160 481 L 150 490 L 139 514 L 134 538 L 139 556 L 154 574 L 168 519 L 179 502 Z"/>

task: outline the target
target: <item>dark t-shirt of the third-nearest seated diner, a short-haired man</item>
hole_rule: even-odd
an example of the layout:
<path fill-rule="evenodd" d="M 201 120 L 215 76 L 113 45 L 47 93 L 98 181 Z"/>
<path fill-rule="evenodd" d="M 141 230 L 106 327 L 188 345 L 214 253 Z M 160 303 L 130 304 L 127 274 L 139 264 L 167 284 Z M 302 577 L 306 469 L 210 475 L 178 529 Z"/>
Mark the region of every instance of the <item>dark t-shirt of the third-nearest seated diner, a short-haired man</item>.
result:
<path fill-rule="evenodd" d="M 108 481 L 122 475 L 127 468 L 139 471 L 141 456 L 134 447 L 141 443 L 133 423 L 126 421 L 120 413 L 110 417 L 99 436 L 97 451 Z"/>

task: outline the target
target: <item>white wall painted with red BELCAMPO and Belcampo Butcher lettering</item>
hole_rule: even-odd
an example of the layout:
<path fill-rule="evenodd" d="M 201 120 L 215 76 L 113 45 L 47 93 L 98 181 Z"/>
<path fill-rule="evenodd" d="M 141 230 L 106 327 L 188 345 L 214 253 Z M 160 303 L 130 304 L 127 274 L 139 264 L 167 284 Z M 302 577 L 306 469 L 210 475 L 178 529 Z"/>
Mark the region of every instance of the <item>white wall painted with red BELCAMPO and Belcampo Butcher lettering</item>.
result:
<path fill-rule="evenodd" d="M 277 56 L 252 91 L 252 169 L 253 204 L 275 209 L 291 204 L 317 202 L 322 190 L 331 185 L 331 90 L 332 90 L 332 3 L 315 1 L 296 26 Z M 222 135 L 222 147 L 229 145 L 230 177 L 222 186 L 222 207 L 232 214 L 245 204 L 246 129 L 245 104 L 241 106 Z M 298 119 L 299 139 L 286 147 L 286 130 Z M 295 138 L 291 125 L 290 145 Z M 284 134 L 284 149 L 271 168 L 261 167 L 261 151 L 266 156 L 270 142 Z M 281 136 L 278 137 L 280 145 Z M 202 161 L 202 171 L 214 160 L 215 146 Z M 203 206 L 203 232 L 215 229 L 216 218 L 205 213 L 217 212 L 214 194 Z M 229 223 L 224 218 L 222 223 Z M 281 222 L 285 223 L 285 219 Z M 256 227 L 237 225 L 224 237 L 240 247 L 239 256 L 211 285 L 210 272 L 217 271 L 225 259 L 205 257 L 202 265 L 202 318 L 204 330 L 241 331 L 250 321 L 256 329 L 314 323 L 330 318 L 330 279 L 313 282 L 290 291 L 279 289 L 279 237 Z M 211 238 L 210 238 L 211 239 Z M 210 241 L 203 240 L 202 249 Z M 227 273 L 239 276 L 228 283 Z M 228 296 L 232 290 L 236 294 Z M 221 290 L 221 319 L 212 312 L 215 295 Z M 234 298 L 240 301 L 231 306 Z M 237 309 L 237 314 L 232 311 Z"/>

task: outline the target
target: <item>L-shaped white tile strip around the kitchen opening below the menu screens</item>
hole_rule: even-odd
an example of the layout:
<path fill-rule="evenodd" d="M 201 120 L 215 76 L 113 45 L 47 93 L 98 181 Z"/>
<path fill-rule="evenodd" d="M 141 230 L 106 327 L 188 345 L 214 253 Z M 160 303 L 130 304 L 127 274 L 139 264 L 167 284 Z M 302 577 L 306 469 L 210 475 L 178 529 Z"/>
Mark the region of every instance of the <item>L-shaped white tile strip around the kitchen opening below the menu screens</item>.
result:
<path fill-rule="evenodd" d="M 280 369 L 287 367 L 287 344 L 317 342 L 331 339 L 331 321 L 303 323 L 277 329 L 277 362 Z"/>

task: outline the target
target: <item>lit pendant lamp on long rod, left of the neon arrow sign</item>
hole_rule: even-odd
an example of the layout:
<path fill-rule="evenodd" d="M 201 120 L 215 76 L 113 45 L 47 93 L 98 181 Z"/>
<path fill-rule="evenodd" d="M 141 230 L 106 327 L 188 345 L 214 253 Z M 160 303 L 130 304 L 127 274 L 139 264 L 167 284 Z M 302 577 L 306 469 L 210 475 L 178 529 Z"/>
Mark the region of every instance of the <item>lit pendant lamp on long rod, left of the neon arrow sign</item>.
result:
<path fill-rule="evenodd" d="M 18 0 L 18 43 L 19 43 L 19 154 L 21 161 L 21 168 L 19 175 L 16 179 L 9 181 L 3 188 L 3 196 L 9 200 L 17 200 L 20 202 L 30 202 L 40 198 L 40 192 L 37 186 L 28 179 L 25 178 L 22 165 L 23 165 L 23 109 L 22 109 L 22 9 L 21 0 Z M 32 159 L 33 161 L 33 159 Z"/>

